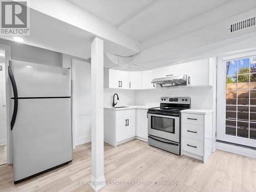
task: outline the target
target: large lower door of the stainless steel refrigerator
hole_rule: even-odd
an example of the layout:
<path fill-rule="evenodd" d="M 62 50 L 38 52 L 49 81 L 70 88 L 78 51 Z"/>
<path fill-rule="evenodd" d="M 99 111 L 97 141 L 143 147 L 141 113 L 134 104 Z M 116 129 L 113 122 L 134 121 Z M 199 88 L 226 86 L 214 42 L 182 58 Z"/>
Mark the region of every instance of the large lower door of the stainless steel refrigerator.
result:
<path fill-rule="evenodd" d="M 14 181 L 71 161 L 71 99 L 19 99 L 11 133 Z"/>

